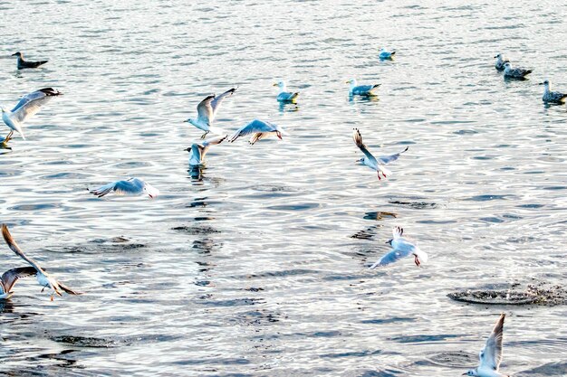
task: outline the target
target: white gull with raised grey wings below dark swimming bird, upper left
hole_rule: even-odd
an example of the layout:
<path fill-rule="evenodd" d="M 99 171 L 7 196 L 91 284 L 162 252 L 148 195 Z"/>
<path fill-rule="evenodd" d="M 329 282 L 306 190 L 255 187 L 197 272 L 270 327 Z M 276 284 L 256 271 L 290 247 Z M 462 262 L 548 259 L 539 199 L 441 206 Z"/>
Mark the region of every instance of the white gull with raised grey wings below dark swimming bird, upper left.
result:
<path fill-rule="evenodd" d="M 2 108 L 2 120 L 4 120 L 6 126 L 11 128 L 6 138 L 9 139 L 14 134 L 14 131 L 17 131 L 25 140 L 22 124 L 28 118 L 32 118 L 43 104 L 49 102 L 53 97 L 61 95 L 61 91 L 54 90 L 53 88 L 43 88 L 26 94 L 20 99 L 17 105 L 15 105 L 12 111 Z"/>

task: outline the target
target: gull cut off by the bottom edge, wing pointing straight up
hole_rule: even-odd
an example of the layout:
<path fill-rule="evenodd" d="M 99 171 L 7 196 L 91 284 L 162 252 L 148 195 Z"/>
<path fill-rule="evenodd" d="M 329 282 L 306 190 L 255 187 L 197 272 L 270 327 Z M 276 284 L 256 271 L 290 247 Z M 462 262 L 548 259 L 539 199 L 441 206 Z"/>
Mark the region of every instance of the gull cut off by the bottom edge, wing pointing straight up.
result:
<path fill-rule="evenodd" d="M 480 365 L 471 369 L 464 376 L 477 376 L 477 377 L 510 377 L 506 374 L 498 372 L 500 363 L 502 362 L 502 337 L 504 335 L 504 318 L 505 314 L 502 313 L 498 322 L 496 322 L 492 334 L 486 340 L 485 348 L 478 354 Z"/>

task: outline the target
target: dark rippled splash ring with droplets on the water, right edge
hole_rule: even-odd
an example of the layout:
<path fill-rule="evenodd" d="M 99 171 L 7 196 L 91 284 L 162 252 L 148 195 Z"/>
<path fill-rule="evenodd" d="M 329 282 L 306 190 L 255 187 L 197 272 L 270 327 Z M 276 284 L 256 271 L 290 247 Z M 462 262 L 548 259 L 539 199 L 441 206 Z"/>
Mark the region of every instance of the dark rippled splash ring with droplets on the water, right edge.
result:
<path fill-rule="evenodd" d="M 481 305 L 567 305 L 567 290 L 544 283 L 528 285 L 524 290 L 511 287 L 502 290 L 466 290 L 449 293 L 447 297 L 469 304 Z"/>

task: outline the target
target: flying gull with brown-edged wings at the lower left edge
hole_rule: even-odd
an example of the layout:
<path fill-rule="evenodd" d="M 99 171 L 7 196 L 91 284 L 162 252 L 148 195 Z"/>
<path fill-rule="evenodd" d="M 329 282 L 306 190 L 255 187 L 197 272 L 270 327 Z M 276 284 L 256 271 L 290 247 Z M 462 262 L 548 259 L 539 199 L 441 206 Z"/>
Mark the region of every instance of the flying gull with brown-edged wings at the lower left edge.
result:
<path fill-rule="evenodd" d="M 2 224 L 2 236 L 4 237 L 4 240 L 8 245 L 8 247 L 12 251 L 14 251 L 14 253 L 18 257 L 24 259 L 26 262 L 32 265 L 31 269 L 34 269 L 34 271 L 32 271 L 30 268 L 10 269 L 6 271 L 4 275 L 2 275 L 2 283 L 4 285 L 3 289 L 5 291 L 5 294 L 7 292 L 7 294 L 9 295 L 8 297 L 12 296 L 10 292 L 10 288 L 14 286 L 14 283 L 18 278 L 23 278 L 24 276 L 29 276 L 34 274 L 37 277 L 37 282 L 39 283 L 40 286 L 43 287 L 43 289 L 48 288 L 52 290 L 52 295 L 51 295 L 52 301 L 54 295 L 57 295 L 59 297 L 62 296 L 61 291 L 67 292 L 69 295 L 82 295 L 81 292 L 76 292 L 72 290 L 72 288 L 65 286 L 61 281 L 57 281 L 55 278 L 53 278 L 51 275 L 45 272 L 34 259 L 27 257 L 24 254 L 24 251 L 20 250 L 20 247 L 17 245 L 17 243 L 15 243 L 15 240 L 12 238 L 12 234 L 10 234 L 10 231 L 8 231 L 8 227 L 5 224 Z"/>

